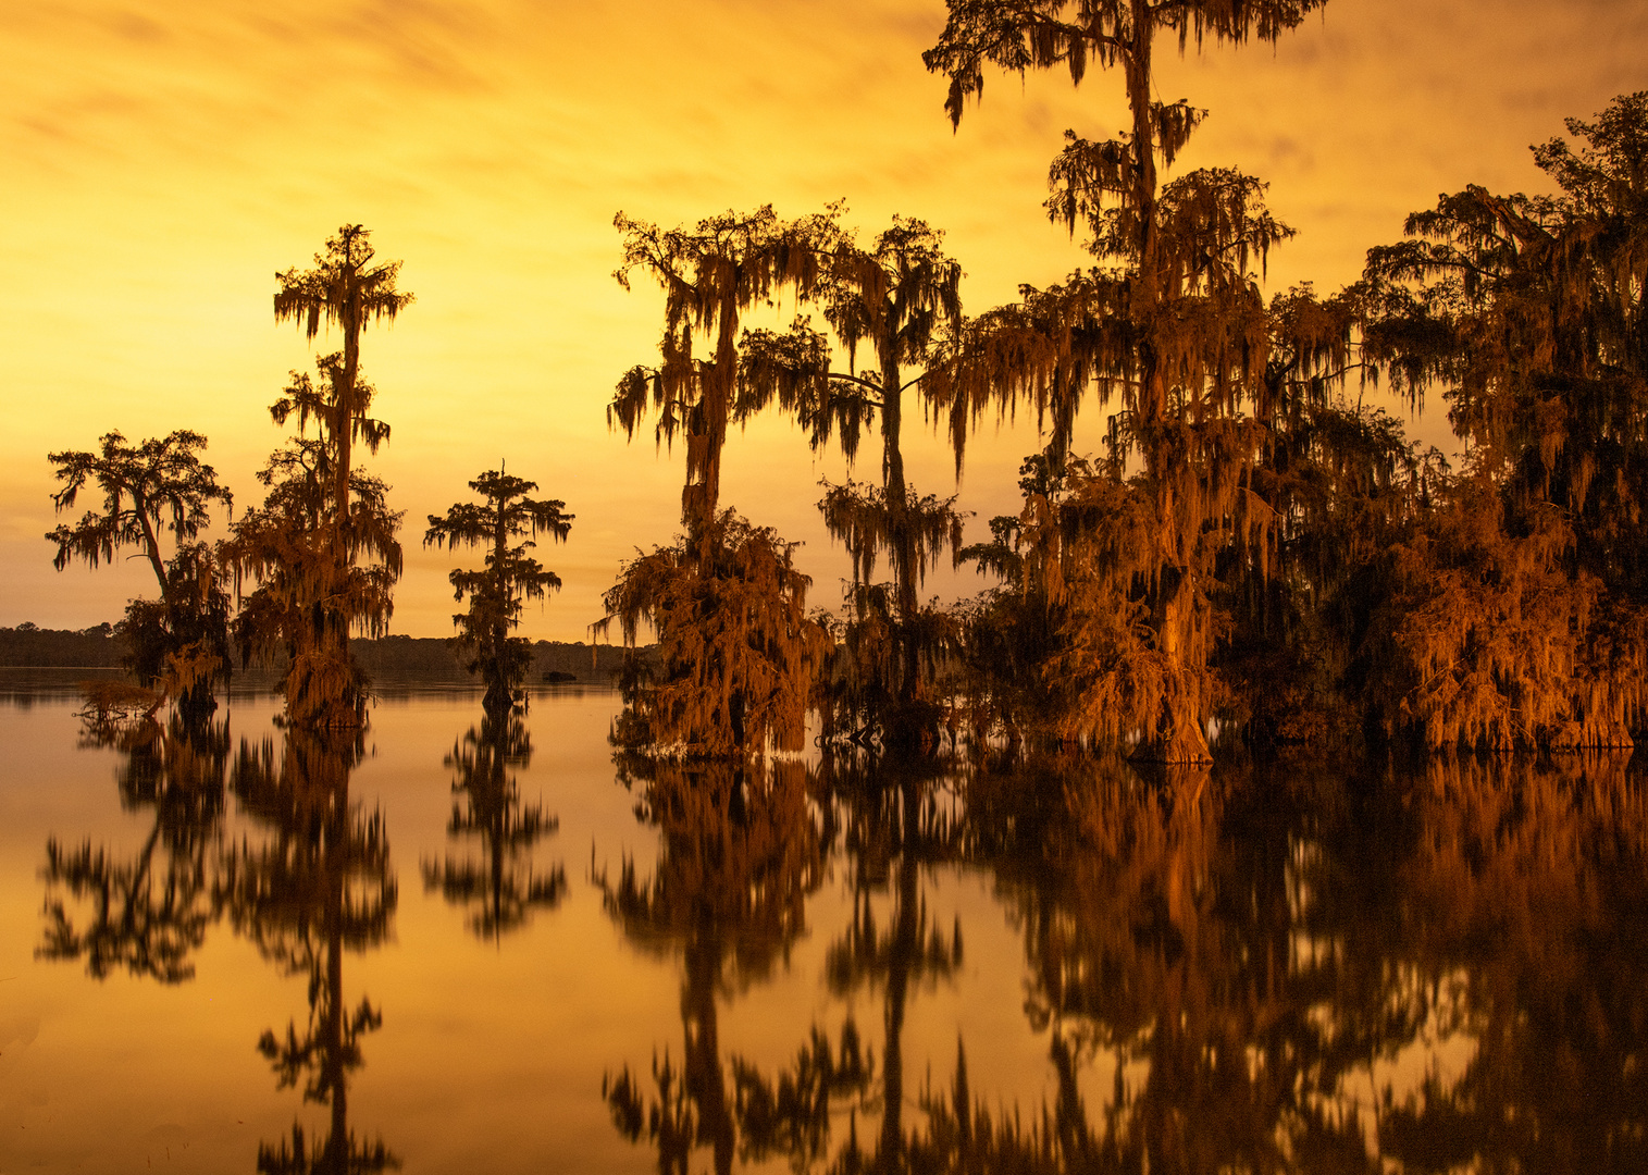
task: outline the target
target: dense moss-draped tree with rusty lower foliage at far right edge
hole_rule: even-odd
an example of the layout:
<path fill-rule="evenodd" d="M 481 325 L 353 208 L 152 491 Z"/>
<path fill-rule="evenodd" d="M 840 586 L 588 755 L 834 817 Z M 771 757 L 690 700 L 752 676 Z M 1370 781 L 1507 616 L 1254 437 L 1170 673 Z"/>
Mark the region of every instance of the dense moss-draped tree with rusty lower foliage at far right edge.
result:
<path fill-rule="evenodd" d="M 1628 747 L 1648 666 L 1648 92 L 1569 120 L 1557 196 L 1442 196 L 1368 254 L 1369 344 L 1439 382 L 1470 468 L 1393 567 L 1388 727 Z"/>

